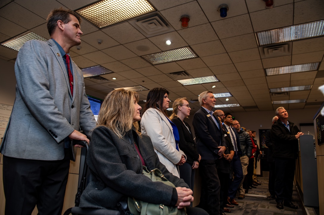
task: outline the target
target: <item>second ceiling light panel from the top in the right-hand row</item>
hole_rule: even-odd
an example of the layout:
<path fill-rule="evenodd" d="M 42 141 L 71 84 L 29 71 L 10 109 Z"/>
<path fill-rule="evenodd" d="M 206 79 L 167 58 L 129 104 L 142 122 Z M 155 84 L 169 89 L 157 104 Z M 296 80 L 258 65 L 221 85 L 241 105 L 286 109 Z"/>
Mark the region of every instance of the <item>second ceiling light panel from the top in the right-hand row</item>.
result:
<path fill-rule="evenodd" d="M 289 74 L 289 73 L 294 73 L 294 72 L 307 72 L 307 71 L 317 70 L 318 65 L 319 65 L 319 62 L 292 65 L 292 66 L 286 66 L 286 67 L 273 67 L 273 68 L 265 69 L 265 72 L 266 72 L 267 76 Z"/>

